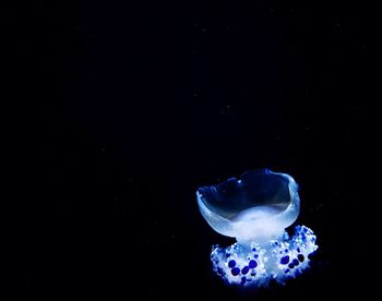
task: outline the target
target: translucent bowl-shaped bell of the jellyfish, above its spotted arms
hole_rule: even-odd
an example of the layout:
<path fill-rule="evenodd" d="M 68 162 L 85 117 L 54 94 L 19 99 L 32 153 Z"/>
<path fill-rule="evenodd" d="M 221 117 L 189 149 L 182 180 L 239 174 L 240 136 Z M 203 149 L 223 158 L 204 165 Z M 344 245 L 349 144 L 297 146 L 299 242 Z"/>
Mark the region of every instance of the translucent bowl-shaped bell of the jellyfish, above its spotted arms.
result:
<path fill-rule="evenodd" d="M 296 181 L 270 169 L 202 186 L 196 198 L 202 216 L 215 231 L 247 246 L 282 238 L 300 210 Z"/>

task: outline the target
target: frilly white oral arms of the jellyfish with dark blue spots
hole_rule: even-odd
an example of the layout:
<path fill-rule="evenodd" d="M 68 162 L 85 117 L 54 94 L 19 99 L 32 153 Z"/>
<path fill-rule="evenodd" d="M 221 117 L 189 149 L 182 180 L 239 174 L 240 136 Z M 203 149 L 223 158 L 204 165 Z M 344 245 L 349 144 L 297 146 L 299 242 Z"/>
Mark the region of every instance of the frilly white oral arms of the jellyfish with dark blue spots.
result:
<path fill-rule="evenodd" d="M 297 226 L 294 236 L 263 244 L 252 242 L 250 249 L 235 243 L 213 246 L 214 272 L 229 284 L 242 287 L 266 287 L 272 280 L 286 284 L 309 267 L 310 255 L 318 249 L 313 231 Z"/>

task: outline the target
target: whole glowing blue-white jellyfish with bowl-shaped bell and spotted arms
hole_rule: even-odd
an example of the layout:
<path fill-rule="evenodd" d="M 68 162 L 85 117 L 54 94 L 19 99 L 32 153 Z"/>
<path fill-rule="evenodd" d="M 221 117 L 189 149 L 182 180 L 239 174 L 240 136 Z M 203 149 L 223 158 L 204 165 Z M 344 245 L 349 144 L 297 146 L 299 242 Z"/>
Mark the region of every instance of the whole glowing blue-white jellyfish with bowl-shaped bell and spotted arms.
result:
<path fill-rule="evenodd" d="M 266 287 L 285 285 L 309 267 L 318 249 L 306 226 L 286 228 L 300 212 L 298 185 L 287 173 L 270 169 L 247 171 L 196 191 L 200 212 L 216 232 L 236 239 L 232 245 L 212 246 L 213 270 L 228 285 Z"/>

